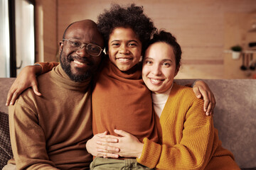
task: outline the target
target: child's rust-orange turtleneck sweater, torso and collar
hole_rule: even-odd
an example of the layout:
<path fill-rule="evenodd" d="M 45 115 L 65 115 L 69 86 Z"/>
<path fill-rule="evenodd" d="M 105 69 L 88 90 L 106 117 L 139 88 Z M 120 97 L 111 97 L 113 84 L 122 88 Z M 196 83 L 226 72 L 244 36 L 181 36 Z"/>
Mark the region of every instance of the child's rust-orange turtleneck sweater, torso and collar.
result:
<path fill-rule="evenodd" d="M 121 72 L 107 60 L 92 91 L 92 131 L 94 134 L 124 130 L 140 141 L 158 142 L 151 92 L 142 81 L 142 68 Z M 132 71 L 132 70 L 130 70 Z"/>

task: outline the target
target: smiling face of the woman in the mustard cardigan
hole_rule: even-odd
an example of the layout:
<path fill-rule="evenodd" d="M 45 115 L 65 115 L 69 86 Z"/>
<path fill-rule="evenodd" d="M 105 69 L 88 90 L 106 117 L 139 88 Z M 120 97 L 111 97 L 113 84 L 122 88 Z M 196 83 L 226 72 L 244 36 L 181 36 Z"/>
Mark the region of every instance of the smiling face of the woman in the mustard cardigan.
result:
<path fill-rule="evenodd" d="M 166 42 L 155 42 L 146 49 L 142 79 L 149 90 L 156 94 L 171 88 L 178 73 L 174 49 Z"/>

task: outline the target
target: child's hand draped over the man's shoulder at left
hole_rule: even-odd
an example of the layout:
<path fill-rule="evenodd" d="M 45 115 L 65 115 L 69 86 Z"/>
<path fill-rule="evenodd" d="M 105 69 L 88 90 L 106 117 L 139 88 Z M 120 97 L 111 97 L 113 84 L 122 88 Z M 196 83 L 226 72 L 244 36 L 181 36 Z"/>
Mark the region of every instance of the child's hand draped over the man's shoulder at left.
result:
<path fill-rule="evenodd" d="M 18 74 L 18 77 L 14 81 L 14 84 L 11 85 L 8 92 L 6 106 L 14 105 L 16 98 L 29 87 L 32 87 L 36 95 L 42 95 L 38 91 L 38 82 L 36 80 L 36 74 L 39 74 L 41 69 L 40 65 L 31 65 L 26 66 L 21 70 L 21 73 Z"/>

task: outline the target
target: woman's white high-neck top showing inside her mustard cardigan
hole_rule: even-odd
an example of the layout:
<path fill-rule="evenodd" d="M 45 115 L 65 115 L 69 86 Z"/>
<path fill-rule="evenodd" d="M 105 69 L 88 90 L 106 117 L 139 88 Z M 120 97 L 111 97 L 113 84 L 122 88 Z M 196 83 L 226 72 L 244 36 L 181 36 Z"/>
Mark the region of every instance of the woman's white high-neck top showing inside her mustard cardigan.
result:
<path fill-rule="evenodd" d="M 171 85 L 171 88 L 173 85 L 174 84 Z M 151 94 L 154 111 L 155 111 L 156 115 L 159 116 L 159 118 L 160 118 L 162 111 L 164 110 L 164 106 L 165 106 L 165 103 L 166 103 L 166 101 L 169 97 L 169 94 L 171 92 L 171 88 L 169 90 L 167 90 L 166 92 L 164 92 L 164 94 L 154 94 L 154 93 Z"/>

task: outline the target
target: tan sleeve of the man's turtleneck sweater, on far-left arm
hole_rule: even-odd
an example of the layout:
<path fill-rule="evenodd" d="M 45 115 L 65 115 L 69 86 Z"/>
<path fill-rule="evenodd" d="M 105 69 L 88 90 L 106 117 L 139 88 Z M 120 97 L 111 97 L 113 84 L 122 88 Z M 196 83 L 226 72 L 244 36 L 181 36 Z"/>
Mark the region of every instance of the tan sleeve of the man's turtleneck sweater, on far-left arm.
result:
<path fill-rule="evenodd" d="M 11 147 L 18 169 L 57 169 L 48 158 L 43 129 L 36 114 L 16 101 L 9 106 Z"/>

